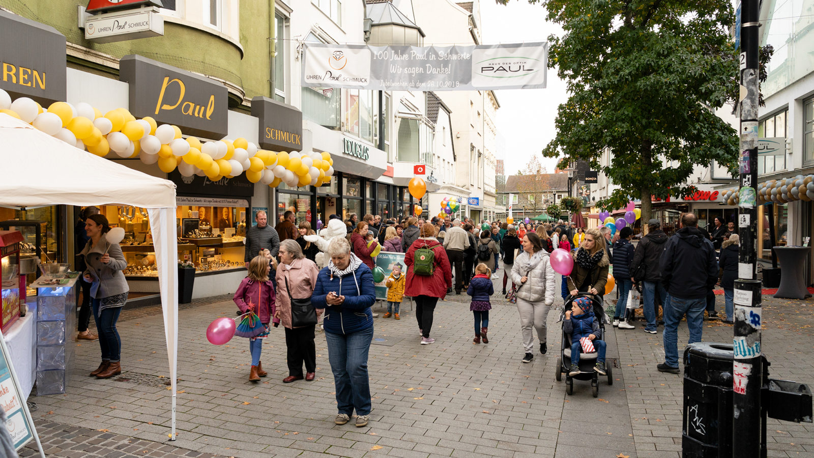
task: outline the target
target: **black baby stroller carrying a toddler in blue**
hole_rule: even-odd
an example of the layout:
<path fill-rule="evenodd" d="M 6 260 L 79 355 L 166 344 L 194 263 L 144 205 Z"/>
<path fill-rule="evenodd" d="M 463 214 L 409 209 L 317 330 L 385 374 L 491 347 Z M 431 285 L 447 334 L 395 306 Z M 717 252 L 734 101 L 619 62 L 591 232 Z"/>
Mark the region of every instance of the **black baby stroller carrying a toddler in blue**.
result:
<path fill-rule="evenodd" d="M 565 319 L 565 312 L 571 310 L 571 302 L 578 297 L 588 297 L 593 302 L 593 315 L 599 321 L 599 328 L 602 329 L 602 339 L 605 338 L 605 324 L 608 323 L 608 317 L 602 307 L 602 300 L 593 294 L 579 293 L 576 296 L 568 296 L 566 298 L 565 306 L 562 307 L 558 323 Z M 589 380 L 591 381 L 591 392 L 594 398 L 599 396 L 599 373 L 593 370 L 593 365 L 597 360 L 597 352 L 593 353 L 580 353 L 580 374 L 574 377 L 568 375 L 569 368 L 571 368 L 571 336 L 566 332 L 562 332 L 562 344 L 560 345 L 560 355 L 557 358 L 557 374 L 555 378 L 557 381 L 562 380 L 562 374 L 565 374 L 565 392 L 566 394 L 574 393 L 574 379 Z M 606 364 L 605 371 L 607 372 L 608 385 L 613 385 L 613 370 L 609 364 Z"/>

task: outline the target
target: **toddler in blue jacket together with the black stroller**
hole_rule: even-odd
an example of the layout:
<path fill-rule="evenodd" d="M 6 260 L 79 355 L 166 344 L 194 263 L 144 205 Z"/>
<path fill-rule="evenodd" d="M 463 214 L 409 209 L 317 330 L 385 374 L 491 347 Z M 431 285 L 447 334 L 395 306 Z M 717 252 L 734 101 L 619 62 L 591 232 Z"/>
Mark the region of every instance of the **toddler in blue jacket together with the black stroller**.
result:
<path fill-rule="evenodd" d="M 571 394 L 573 391 L 574 378 L 590 380 L 593 396 L 596 397 L 598 394 L 597 375 L 607 376 L 608 384 L 613 384 L 610 368 L 605 366 L 606 345 L 602 340 L 605 312 L 602 310 L 601 302 L 593 300 L 589 294 L 580 293 L 579 296 L 569 297 L 569 299 L 570 301 L 563 307 L 564 312 L 560 317 L 562 319 L 562 350 L 556 378 L 560 380 L 562 373 L 567 375 L 567 394 Z"/>

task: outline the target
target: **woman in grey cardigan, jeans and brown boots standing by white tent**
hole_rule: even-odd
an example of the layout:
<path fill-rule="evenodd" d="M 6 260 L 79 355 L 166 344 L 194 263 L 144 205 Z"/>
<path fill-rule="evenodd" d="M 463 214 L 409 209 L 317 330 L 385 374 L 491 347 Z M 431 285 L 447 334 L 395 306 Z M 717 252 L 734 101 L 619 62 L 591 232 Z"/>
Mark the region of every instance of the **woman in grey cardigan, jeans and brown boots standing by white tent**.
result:
<path fill-rule="evenodd" d="M 116 321 L 127 302 L 129 288 L 122 272 L 127 261 L 119 244 L 107 242 L 105 234 L 110 225 L 102 214 L 90 215 L 85 220 L 85 231 L 90 240 L 80 253 L 88 266 L 83 276 L 90 283 L 90 304 L 102 349 L 102 363 L 90 372 L 90 377 L 110 378 L 121 373 L 121 339 Z"/>

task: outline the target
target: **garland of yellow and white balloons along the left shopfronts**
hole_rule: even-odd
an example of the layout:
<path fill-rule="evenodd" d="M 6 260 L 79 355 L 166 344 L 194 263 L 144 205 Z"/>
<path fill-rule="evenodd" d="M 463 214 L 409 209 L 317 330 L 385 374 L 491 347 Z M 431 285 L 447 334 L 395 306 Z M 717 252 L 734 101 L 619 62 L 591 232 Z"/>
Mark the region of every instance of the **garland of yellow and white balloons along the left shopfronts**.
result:
<path fill-rule="evenodd" d="M 277 187 L 321 186 L 334 174 L 334 160 L 327 152 L 271 152 L 246 139 L 201 143 L 182 138 L 177 126 L 158 126 L 152 117 L 136 119 L 125 108 L 102 114 L 88 103 L 55 102 L 44 110 L 28 97 L 11 100 L 0 89 L 0 113 L 28 122 L 63 142 L 107 156 L 138 157 L 145 164 L 158 163 L 165 173 L 176 168 L 183 176 L 207 176 L 213 181 L 245 172 L 252 183 Z"/>

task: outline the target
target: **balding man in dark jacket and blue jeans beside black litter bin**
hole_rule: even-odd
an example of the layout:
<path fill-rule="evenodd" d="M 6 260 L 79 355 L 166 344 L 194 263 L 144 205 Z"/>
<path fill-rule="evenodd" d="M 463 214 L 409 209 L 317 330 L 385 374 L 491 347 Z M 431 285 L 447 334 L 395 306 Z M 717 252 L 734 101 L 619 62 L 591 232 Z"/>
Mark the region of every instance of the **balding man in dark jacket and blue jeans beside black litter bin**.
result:
<path fill-rule="evenodd" d="M 681 229 L 667 240 L 659 269 L 669 296 L 664 304 L 664 363 L 658 368 L 677 374 L 678 323 L 686 315 L 689 343 L 701 341 L 707 290 L 718 280 L 715 249 L 698 231 L 697 216 L 681 215 Z"/>

